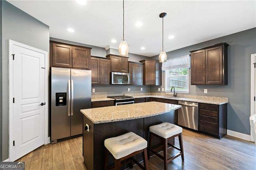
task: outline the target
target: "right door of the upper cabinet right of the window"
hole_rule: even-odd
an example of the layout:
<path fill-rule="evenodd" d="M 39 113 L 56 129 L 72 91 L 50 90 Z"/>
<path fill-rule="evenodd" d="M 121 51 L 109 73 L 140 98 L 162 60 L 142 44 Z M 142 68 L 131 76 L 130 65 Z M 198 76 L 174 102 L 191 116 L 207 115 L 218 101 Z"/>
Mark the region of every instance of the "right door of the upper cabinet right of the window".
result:
<path fill-rule="evenodd" d="M 205 83 L 222 84 L 222 46 L 205 50 Z"/>

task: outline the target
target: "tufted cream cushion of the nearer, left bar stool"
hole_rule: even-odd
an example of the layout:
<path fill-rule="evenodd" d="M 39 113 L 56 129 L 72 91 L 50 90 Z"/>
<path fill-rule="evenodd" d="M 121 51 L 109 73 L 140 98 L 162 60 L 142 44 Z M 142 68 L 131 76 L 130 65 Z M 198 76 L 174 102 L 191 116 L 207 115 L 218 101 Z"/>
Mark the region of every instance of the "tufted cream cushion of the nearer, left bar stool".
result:
<path fill-rule="evenodd" d="M 120 159 L 133 152 L 146 148 L 148 142 L 137 134 L 128 132 L 121 136 L 106 139 L 104 145 L 114 158 Z"/>

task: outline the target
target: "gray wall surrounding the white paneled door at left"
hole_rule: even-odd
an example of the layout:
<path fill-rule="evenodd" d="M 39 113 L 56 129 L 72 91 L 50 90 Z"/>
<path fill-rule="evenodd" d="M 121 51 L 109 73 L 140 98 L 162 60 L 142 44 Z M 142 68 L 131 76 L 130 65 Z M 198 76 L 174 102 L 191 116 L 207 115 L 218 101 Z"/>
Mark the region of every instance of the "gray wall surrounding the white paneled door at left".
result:
<path fill-rule="evenodd" d="M 2 1 L 2 160 L 8 158 L 8 40 L 49 52 L 49 26 Z"/>

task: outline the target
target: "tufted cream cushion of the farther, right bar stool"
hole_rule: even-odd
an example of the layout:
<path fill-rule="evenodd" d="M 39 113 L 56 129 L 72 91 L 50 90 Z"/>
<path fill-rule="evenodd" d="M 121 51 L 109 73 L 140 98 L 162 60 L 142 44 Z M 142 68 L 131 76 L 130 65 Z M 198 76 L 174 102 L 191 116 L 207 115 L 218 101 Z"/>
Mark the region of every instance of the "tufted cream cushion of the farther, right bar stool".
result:
<path fill-rule="evenodd" d="M 177 125 L 164 122 L 159 125 L 149 127 L 149 131 L 163 138 L 170 138 L 171 136 L 181 133 L 182 128 Z"/>

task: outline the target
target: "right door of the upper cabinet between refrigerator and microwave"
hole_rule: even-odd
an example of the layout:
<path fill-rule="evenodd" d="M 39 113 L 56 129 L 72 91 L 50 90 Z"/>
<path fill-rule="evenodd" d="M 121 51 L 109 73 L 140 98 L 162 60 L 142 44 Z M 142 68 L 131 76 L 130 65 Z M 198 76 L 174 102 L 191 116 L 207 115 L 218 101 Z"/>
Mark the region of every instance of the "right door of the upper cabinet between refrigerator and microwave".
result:
<path fill-rule="evenodd" d="M 100 59 L 100 84 L 110 84 L 110 59 Z"/>

